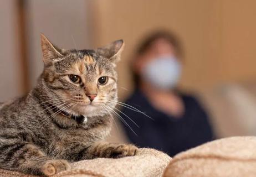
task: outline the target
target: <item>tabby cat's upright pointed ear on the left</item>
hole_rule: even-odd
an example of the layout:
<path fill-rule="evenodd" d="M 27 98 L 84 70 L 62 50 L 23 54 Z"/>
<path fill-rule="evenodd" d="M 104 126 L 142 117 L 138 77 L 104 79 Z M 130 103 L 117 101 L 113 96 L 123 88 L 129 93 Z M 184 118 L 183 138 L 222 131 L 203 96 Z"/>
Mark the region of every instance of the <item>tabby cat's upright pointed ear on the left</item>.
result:
<path fill-rule="evenodd" d="M 44 64 L 50 64 L 63 56 L 62 49 L 53 45 L 43 33 L 40 34 Z"/>

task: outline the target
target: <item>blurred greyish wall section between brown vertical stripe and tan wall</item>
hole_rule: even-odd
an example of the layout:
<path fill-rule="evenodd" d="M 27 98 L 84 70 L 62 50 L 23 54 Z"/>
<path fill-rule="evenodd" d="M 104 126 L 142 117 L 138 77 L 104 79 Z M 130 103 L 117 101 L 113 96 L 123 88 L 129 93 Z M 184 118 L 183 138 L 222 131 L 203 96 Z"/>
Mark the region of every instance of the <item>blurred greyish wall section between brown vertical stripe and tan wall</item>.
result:
<path fill-rule="evenodd" d="M 60 48 L 90 47 L 88 6 L 84 0 L 25 1 L 30 87 L 43 71 L 40 33 Z"/>

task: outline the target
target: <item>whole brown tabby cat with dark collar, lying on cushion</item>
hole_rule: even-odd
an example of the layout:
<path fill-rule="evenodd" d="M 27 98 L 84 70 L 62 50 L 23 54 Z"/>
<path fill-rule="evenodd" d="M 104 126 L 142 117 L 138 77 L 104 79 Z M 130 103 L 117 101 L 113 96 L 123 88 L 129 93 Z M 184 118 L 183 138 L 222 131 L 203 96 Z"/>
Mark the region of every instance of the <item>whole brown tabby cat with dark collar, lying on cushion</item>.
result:
<path fill-rule="evenodd" d="M 135 145 L 104 142 L 124 41 L 66 50 L 40 37 L 44 70 L 37 85 L 0 105 L 0 168 L 50 176 L 69 170 L 69 162 L 135 155 Z"/>

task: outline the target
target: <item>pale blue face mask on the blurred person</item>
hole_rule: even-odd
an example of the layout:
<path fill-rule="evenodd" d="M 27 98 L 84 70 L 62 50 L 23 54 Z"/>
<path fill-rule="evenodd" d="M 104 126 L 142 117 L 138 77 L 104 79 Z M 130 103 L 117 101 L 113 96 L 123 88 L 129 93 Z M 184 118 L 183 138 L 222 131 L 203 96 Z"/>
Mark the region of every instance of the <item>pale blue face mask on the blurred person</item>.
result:
<path fill-rule="evenodd" d="M 153 59 L 142 69 L 142 79 L 161 90 L 175 87 L 180 75 L 181 63 L 172 56 Z"/>

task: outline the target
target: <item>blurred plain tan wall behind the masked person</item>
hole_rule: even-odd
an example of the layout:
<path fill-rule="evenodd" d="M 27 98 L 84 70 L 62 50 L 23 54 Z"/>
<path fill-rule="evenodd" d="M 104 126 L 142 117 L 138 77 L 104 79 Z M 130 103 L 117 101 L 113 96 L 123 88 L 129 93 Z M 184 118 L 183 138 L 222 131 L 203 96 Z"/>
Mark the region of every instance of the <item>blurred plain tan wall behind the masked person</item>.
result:
<path fill-rule="evenodd" d="M 119 84 L 131 91 L 129 60 L 145 34 L 170 29 L 185 48 L 181 86 L 202 91 L 223 82 L 256 77 L 256 1 L 253 0 L 95 0 L 95 45 L 123 38 Z M 129 92 L 128 91 L 128 92 Z M 121 97 L 128 93 L 120 89 Z"/>

